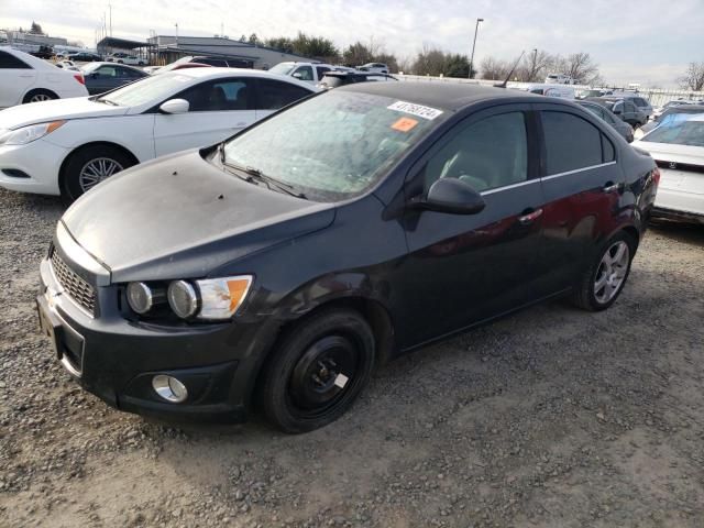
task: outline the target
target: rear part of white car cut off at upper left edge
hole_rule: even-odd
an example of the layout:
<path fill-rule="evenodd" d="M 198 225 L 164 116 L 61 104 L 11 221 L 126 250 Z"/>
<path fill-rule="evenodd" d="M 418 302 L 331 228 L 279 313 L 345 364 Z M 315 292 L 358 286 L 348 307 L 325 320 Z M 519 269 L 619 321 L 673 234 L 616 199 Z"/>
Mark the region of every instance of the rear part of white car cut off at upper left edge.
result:
<path fill-rule="evenodd" d="M 29 53 L 0 46 L 0 109 L 87 95 L 79 72 L 57 68 Z"/>

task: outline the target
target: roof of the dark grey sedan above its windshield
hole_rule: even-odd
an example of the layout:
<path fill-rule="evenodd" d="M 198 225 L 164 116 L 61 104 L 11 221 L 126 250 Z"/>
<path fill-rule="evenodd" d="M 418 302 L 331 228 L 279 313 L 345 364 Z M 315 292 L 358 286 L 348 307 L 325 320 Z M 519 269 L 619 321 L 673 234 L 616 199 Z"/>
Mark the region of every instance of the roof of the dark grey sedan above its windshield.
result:
<path fill-rule="evenodd" d="M 487 99 L 546 100 L 543 96 L 535 94 L 460 82 L 361 82 L 342 86 L 337 90 L 377 95 L 451 111 Z"/>

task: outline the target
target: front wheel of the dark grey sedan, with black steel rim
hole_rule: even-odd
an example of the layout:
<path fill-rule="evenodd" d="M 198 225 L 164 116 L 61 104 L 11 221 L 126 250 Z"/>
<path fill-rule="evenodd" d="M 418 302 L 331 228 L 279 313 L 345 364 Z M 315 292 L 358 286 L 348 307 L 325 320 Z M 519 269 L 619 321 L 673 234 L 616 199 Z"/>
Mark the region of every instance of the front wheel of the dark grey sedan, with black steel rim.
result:
<path fill-rule="evenodd" d="M 286 332 L 264 367 L 260 404 L 285 432 L 327 426 L 360 395 L 374 358 L 374 336 L 360 314 L 322 311 Z"/>

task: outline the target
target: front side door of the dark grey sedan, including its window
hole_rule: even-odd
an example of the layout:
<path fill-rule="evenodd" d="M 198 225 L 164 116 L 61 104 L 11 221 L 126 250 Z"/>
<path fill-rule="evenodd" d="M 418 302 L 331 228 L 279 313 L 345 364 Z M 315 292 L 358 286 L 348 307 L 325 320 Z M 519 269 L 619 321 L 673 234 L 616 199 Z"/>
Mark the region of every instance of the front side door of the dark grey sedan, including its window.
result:
<path fill-rule="evenodd" d="M 409 210 L 399 302 L 402 348 L 517 308 L 535 297 L 542 223 L 534 118 L 525 105 L 481 111 L 455 125 L 411 172 L 407 198 L 438 178 L 481 193 L 477 215 Z"/>

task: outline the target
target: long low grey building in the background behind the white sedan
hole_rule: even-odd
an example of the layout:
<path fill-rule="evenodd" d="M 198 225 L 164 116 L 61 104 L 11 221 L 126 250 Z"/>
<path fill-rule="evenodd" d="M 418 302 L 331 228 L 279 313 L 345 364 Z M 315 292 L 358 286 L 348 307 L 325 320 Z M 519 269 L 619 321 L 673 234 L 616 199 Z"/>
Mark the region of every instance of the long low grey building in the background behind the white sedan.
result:
<path fill-rule="evenodd" d="M 257 69 L 268 69 L 287 61 L 319 62 L 271 47 L 232 41 L 227 36 L 156 35 L 147 38 L 147 45 L 153 64 L 173 63 L 187 55 L 240 59 Z"/>

